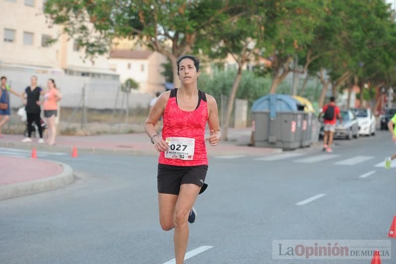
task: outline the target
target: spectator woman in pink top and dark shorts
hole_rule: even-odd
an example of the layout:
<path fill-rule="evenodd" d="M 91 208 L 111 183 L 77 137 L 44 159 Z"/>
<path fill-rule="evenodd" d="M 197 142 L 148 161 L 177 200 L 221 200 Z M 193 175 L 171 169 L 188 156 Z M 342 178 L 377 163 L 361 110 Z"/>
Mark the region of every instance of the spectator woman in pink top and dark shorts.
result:
<path fill-rule="evenodd" d="M 55 145 L 55 135 L 56 135 L 56 126 L 55 126 L 55 117 L 58 112 L 58 101 L 62 98 L 58 89 L 56 88 L 55 81 L 53 79 L 48 79 L 47 82 L 48 90 L 44 95 L 44 117 L 47 117 L 47 125 L 48 125 L 48 145 Z"/>

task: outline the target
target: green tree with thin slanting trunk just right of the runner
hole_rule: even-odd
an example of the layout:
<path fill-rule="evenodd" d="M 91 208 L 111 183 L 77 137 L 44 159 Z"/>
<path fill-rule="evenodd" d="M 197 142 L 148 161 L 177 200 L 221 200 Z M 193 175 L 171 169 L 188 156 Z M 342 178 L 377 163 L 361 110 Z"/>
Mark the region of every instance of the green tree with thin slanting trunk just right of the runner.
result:
<path fill-rule="evenodd" d="M 221 24 L 214 23 L 209 29 L 211 34 L 202 38 L 198 45 L 202 47 L 201 52 L 210 58 L 224 58 L 231 54 L 237 65 L 222 127 L 222 137 L 225 140 L 228 138 L 228 127 L 243 69 L 248 61 L 254 60 L 260 53 L 266 19 L 265 1 L 245 0 L 241 3 L 244 3 L 243 7 L 225 12 Z"/>

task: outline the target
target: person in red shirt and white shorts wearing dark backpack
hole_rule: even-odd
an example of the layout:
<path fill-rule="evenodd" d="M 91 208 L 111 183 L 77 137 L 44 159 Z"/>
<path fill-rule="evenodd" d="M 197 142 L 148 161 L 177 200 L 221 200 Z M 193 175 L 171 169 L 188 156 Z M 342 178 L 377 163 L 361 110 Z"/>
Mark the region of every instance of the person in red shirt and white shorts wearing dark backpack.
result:
<path fill-rule="evenodd" d="M 333 135 L 336 131 L 337 117 L 340 119 L 340 124 L 343 122 L 343 118 L 340 113 L 340 108 L 336 106 L 336 98 L 332 96 L 330 103 L 323 106 L 322 112 L 319 114 L 319 118 L 323 114 L 324 119 L 324 130 L 325 135 L 323 137 L 323 151 L 333 152 L 331 146 L 333 144 Z"/>

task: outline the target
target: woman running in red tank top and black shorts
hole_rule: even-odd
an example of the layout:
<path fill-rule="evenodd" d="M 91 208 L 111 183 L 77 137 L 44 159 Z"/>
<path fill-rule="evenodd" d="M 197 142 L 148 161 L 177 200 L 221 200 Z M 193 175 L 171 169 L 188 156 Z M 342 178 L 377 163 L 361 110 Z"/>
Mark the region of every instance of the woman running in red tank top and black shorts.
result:
<path fill-rule="evenodd" d="M 189 226 L 197 219 L 193 208 L 204 184 L 208 168 L 206 138 L 216 146 L 221 138 L 215 99 L 197 88 L 199 60 L 192 55 L 178 58 L 177 74 L 181 87 L 167 91 L 150 110 L 145 129 L 151 143 L 160 153 L 158 158 L 159 222 L 163 230 L 175 228 L 174 246 L 176 264 L 183 264 L 186 254 Z M 156 134 L 155 123 L 163 117 L 162 136 Z"/>

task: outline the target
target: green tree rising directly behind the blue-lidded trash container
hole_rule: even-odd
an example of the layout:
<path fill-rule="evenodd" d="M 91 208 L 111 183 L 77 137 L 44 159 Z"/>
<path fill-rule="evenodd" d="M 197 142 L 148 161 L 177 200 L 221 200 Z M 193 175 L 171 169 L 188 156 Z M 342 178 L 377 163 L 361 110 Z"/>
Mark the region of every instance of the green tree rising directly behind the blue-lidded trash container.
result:
<path fill-rule="evenodd" d="M 302 72 L 318 58 L 309 45 L 315 39 L 315 29 L 324 17 L 327 0 L 275 1 L 276 16 L 265 23 L 266 54 L 272 61 L 273 79 L 270 93 L 294 71 L 291 64 L 298 57 L 304 58 Z M 301 70 L 299 70 L 301 71 Z"/>

